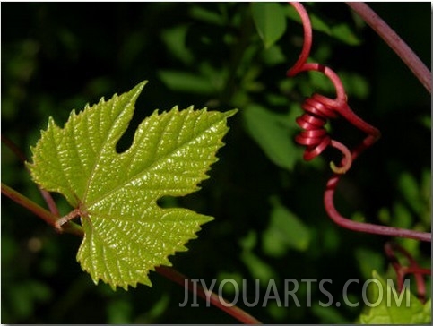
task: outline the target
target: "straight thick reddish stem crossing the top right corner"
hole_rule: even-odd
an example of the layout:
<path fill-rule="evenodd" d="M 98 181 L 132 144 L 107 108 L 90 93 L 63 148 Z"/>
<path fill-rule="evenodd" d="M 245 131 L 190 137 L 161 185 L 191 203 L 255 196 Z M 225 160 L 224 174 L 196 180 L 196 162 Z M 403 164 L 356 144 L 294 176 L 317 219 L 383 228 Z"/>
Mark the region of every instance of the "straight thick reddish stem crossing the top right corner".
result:
<path fill-rule="evenodd" d="M 349 5 L 353 11 L 358 13 L 359 16 L 385 40 L 386 44 L 394 50 L 397 56 L 400 56 L 403 63 L 411 69 L 411 72 L 419 79 L 426 90 L 431 93 L 431 73 L 429 68 L 422 63 L 420 58 L 411 50 L 411 47 L 409 47 L 377 13 L 368 7 L 367 4 L 360 2 L 348 2 L 346 4 Z"/>

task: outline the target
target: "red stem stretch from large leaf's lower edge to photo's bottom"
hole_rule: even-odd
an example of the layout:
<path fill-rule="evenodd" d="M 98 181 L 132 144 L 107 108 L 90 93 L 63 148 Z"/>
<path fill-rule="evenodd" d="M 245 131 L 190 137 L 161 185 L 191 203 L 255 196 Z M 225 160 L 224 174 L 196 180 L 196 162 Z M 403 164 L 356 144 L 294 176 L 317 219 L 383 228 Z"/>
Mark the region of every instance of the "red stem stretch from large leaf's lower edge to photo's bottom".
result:
<path fill-rule="evenodd" d="M 187 286 L 188 290 L 191 292 L 194 292 L 194 287 L 191 282 L 189 282 L 189 279 L 186 278 L 186 276 L 179 273 L 177 270 L 173 270 L 169 267 L 160 266 L 155 269 L 160 275 L 174 281 L 175 283 L 178 283 L 181 287 Z M 204 288 L 197 284 L 196 287 L 197 295 L 206 299 L 206 292 L 204 291 Z M 253 316 L 251 316 L 249 313 L 246 313 L 242 309 L 240 309 L 238 306 L 227 306 L 227 302 L 221 297 L 217 296 L 214 293 L 211 293 L 209 296 L 210 303 L 212 305 L 215 305 L 217 308 L 221 309 L 223 312 L 228 313 L 230 316 L 236 318 L 239 322 L 243 322 L 246 324 L 261 324 L 258 320 L 256 320 Z M 222 305 L 222 302 L 226 303 L 226 305 Z"/>

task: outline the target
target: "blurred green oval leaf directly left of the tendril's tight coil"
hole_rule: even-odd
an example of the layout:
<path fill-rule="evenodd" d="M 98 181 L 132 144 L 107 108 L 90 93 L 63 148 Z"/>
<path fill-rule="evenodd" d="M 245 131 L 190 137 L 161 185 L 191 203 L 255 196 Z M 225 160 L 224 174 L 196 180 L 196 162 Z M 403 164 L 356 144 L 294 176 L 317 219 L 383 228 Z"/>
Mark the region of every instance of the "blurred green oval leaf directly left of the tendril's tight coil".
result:
<path fill-rule="evenodd" d="M 291 170 L 299 159 L 287 116 L 251 105 L 242 111 L 247 132 L 279 167 Z"/>

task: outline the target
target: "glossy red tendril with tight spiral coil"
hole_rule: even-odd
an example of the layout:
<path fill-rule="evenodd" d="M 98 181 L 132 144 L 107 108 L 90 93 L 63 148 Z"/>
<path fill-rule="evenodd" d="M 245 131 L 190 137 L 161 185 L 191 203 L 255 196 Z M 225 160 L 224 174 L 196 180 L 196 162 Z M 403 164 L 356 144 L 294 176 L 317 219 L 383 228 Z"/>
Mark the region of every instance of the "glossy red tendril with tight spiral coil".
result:
<path fill-rule="evenodd" d="M 307 58 L 309 56 L 313 39 L 311 22 L 309 21 L 307 11 L 302 4 L 290 4 L 296 9 L 301 18 L 304 28 L 304 44 L 298 61 L 289 69 L 287 75 L 293 77 L 298 73 L 306 71 L 323 73 L 331 82 L 333 82 L 336 92 L 335 99 L 329 99 L 320 94 L 314 94 L 310 98 L 306 99 L 301 106 L 305 113 L 296 120 L 297 124 L 299 124 L 303 131 L 299 133 L 295 138 L 295 141 L 307 147 L 304 152 L 304 159 L 309 160 L 316 158 L 316 156 L 321 154 L 328 146 L 342 152 L 340 167 L 336 167 L 333 162 L 331 162 L 331 168 L 333 169 L 334 175 L 326 184 L 324 195 L 326 212 L 336 224 L 354 231 L 385 236 L 402 236 L 431 242 L 430 233 L 353 221 L 344 218 L 338 210 L 335 209 L 333 196 L 342 173 L 348 171 L 351 167 L 352 161 L 356 159 L 363 150 L 366 150 L 379 139 L 380 132 L 377 128 L 362 120 L 351 110 L 347 104 L 347 96 L 342 82 L 333 70 L 323 64 L 307 64 Z M 334 141 L 325 130 L 327 120 L 339 116 L 342 116 L 348 122 L 356 126 L 360 131 L 367 134 L 367 136 L 353 150 L 349 150 L 341 142 Z"/>

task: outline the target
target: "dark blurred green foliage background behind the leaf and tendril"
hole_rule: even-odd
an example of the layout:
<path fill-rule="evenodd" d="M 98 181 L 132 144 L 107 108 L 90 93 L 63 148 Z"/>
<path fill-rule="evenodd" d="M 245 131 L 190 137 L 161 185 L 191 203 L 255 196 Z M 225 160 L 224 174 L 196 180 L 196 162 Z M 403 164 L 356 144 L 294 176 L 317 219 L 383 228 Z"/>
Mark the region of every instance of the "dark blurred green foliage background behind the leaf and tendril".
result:
<path fill-rule="evenodd" d="M 62 125 L 73 108 L 143 80 L 150 82 L 124 146 L 155 108 L 238 107 L 202 191 L 165 201 L 216 218 L 171 261 L 190 278 L 248 279 L 248 288 L 255 279 L 275 279 L 280 288 L 283 279 L 329 278 L 326 289 L 337 301 L 348 279 L 368 279 L 372 270 L 394 276 L 383 253 L 388 239 L 344 230 L 326 217 L 326 162 L 338 158 L 331 150 L 306 163 L 293 137 L 302 99 L 314 91 L 332 96 L 332 85 L 316 73 L 285 77 L 299 56 L 302 28 L 287 6 L 284 33 L 271 29 L 264 43 L 256 5 L 3 3 L 2 133 L 29 155 L 48 116 Z M 430 66 L 429 4 L 371 6 Z M 429 230 L 429 94 L 347 6 L 317 3 L 307 10 L 315 28 L 311 59 L 342 75 L 351 107 L 383 133 L 343 177 L 337 207 L 354 219 Z M 332 133 L 349 144 L 362 137 L 338 122 Z M 43 205 L 3 144 L 2 182 Z M 68 212 L 60 196 L 56 201 Z M 156 273 L 152 288 L 95 287 L 75 261 L 81 240 L 58 236 L 5 197 L 1 223 L 4 323 L 233 322 L 204 302 L 180 308 L 184 289 Z M 421 266 L 430 265 L 429 245 L 397 241 Z M 312 307 L 239 306 L 263 322 L 353 322 L 361 313 L 361 306 L 321 307 L 318 288 L 312 291 Z M 307 302 L 306 287 L 297 295 Z M 350 296 L 359 298 L 360 290 Z"/>

